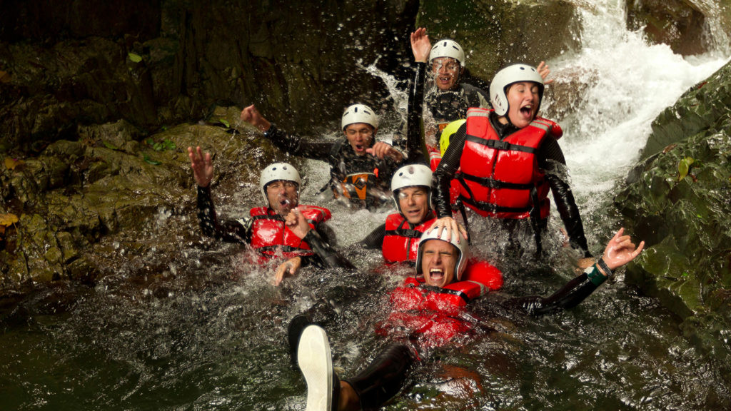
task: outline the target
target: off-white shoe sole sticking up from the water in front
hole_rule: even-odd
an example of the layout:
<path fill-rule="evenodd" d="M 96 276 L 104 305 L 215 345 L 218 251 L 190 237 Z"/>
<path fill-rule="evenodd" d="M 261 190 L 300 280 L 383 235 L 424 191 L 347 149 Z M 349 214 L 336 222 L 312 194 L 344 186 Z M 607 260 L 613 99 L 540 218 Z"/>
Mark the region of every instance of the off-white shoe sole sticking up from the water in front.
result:
<path fill-rule="evenodd" d="M 300 371 L 307 382 L 306 411 L 330 411 L 333 404 L 333 358 L 327 333 L 317 325 L 308 325 L 297 349 Z"/>

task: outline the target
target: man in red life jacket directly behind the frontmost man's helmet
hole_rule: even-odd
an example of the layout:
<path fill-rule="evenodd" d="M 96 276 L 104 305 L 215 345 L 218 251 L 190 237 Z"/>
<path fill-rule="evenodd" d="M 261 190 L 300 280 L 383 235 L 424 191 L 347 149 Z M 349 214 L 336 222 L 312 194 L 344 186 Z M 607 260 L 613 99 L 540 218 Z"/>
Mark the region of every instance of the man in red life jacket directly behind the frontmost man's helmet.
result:
<path fill-rule="evenodd" d="M 431 209 L 431 169 L 405 165 L 391 178 L 393 202 L 398 213 L 386 217 L 360 244 L 382 250 L 387 263 L 416 260 L 419 238 L 436 220 Z"/>

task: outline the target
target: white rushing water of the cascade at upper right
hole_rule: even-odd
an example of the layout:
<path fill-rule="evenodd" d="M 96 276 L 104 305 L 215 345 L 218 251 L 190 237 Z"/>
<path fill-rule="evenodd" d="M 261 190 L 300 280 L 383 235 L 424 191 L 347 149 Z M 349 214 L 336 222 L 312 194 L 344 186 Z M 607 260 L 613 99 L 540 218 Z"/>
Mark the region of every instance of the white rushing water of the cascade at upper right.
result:
<path fill-rule="evenodd" d="M 583 21 L 581 49 L 549 64 L 557 83 L 578 80 L 582 88 L 580 102 L 558 120 L 564 128 L 560 143 L 572 187 L 585 203 L 626 176 L 651 134 L 654 118 L 716 72 L 730 51 L 725 34 L 716 34 L 721 36 L 711 42 L 716 50 L 683 58 L 667 45 L 648 44 L 641 30 L 628 31 L 624 1 L 576 3 Z M 710 33 L 722 33 L 713 29 L 713 20 L 708 24 Z"/>

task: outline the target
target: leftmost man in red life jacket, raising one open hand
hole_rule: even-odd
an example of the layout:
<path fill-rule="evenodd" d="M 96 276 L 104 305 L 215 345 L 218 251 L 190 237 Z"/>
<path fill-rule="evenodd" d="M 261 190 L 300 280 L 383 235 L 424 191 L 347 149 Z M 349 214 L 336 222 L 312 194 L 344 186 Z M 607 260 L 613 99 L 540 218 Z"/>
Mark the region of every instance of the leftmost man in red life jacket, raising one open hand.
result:
<path fill-rule="evenodd" d="M 328 240 L 332 237 L 325 222 L 330 211 L 318 206 L 300 206 L 300 173 L 285 162 L 265 167 L 260 175 L 259 186 L 267 206 L 251 208 L 243 219 L 221 220 L 211 198 L 213 159 L 211 153 L 202 153 L 200 147 L 188 148 L 193 178 L 197 184 L 197 214 L 204 235 L 230 243 L 249 244 L 260 255 L 260 262 L 284 257 L 298 257 L 296 263 L 322 265 L 319 257 L 284 225 L 284 219 L 293 209 L 298 209 L 313 230 Z M 275 278 L 278 284 L 281 278 Z"/>

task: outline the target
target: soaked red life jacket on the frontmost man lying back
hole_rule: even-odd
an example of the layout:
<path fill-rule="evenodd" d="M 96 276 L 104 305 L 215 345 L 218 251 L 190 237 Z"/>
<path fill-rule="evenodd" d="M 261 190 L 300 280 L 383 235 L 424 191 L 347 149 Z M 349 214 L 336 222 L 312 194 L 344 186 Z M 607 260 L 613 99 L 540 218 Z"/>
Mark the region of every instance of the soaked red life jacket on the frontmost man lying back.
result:
<path fill-rule="evenodd" d="M 418 334 L 423 347 L 439 347 L 455 336 L 467 333 L 472 323 L 460 317 L 469 301 L 480 298 L 503 283 L 501 272 L 484 261 L 469 263 L 461 281 L 444 288 L 429 287 L 422 278 L 410 277 L 390 294 L 395 309 L 376 333 L 388 335 L 394 329 Z"/>

